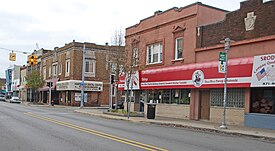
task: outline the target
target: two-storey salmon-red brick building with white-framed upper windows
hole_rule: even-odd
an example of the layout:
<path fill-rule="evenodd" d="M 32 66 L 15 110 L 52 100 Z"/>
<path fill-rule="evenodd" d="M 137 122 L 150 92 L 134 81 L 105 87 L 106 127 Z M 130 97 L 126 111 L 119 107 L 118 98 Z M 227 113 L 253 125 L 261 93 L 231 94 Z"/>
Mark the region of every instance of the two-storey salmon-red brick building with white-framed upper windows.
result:
<path fill-rule="evenodd" d="M 146 113 L 146 103 L 155 102 L 158 103 L 156 116 L 191 118 L 190 91 L 194 86 L 181 85 L 178 80 L 184 80 L 182 73 L 169 73 L 197 62 L 196 27 L 221 21 L 226 13 L 198 2 L 157 11 L 126 29 L 126 51 L 128 58 L 134 57 L 128 64 L 133 63 L 139 71 L 136 83 L 140 84 L 134 91 L 132 110 Z M 120 89 L 125 89 L 125 80 L 119 82 Z"/>

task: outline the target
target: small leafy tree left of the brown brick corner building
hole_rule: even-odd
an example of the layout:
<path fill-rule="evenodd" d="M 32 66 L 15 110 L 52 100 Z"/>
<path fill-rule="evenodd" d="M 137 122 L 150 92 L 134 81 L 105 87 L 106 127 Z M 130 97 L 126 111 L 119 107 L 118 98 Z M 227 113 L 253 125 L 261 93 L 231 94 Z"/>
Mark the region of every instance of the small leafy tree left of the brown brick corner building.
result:
<path fill-rule="evenodd" d="M 36 95 L 36 92 L 38 88 L 42 88 L 44 86 L 45 81 L 42 80 L 40 73 L 38 71 L 32 71 L 27 77 L 27 86 L 34 91 L 34 94 Z M 36 98 L 36 96 L 34 96 Z M 35 99 L 36 102 L 37 99 Z"/>

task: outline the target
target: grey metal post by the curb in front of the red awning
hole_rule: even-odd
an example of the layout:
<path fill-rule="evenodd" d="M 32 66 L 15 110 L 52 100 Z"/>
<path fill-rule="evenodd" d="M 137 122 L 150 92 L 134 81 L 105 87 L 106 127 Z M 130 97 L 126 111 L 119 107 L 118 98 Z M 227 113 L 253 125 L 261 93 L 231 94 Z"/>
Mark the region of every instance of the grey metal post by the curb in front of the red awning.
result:
<path fill-rule="evenodd" d="M 225 75 L 224 75 L 224 92 L 223 92 L 223 117 L 221 129 L 227 129 L 225 122 L 226 102 L 227 102 L 227 72 L 228 72 L 228 51 L 230 49 L 230 38 L 225 38 L 224 49 L 225 49 Z"/>

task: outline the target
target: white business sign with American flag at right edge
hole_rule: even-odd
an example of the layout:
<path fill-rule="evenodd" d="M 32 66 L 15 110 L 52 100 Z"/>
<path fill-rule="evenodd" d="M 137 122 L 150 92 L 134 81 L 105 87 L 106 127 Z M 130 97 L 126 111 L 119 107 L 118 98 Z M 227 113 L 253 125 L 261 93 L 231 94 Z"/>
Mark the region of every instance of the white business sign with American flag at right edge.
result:
<path fill-rule="evenodd" d="M 275 54 L 254 57 L 251 87 L 275 87 Z"/>

